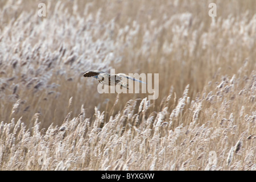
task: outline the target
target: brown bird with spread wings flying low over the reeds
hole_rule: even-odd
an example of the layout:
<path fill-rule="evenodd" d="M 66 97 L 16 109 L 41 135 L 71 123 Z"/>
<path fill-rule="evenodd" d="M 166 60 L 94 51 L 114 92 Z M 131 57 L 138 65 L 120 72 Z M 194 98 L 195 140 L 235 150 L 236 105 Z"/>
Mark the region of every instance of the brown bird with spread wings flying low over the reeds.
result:
<path fill-rule="evenodd" d="M 130 77 L 128 75 L 125 75 L 124 73 L 118 73 L 118 74 L 109 74 L 102 71 L 88 71 L 84 73 L 84 77 L 93 77 L 96 78 L 101 84 L 104 85 L 121 85 L 124 88 L 129 89 L 129 84 L 126 84 L 123 82 L 123 78 L 127 78 L 133 81 L 138 81 L 143 84 L 146 84 L 145 82 L 141 80 L 137 80 L 133 77 Z"/>

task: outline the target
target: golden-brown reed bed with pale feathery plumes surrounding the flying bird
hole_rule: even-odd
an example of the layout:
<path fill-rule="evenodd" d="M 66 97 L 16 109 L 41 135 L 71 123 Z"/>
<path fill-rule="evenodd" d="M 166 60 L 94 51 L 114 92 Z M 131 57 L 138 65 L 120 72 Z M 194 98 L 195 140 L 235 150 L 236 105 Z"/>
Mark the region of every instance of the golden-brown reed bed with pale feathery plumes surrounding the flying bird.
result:
<path fill-rule="evenodd" d="M 0 1 L 1 170 L 255 170 L 256 2 Z M 159 73 L 159 98 L 85 71 Z"/>

